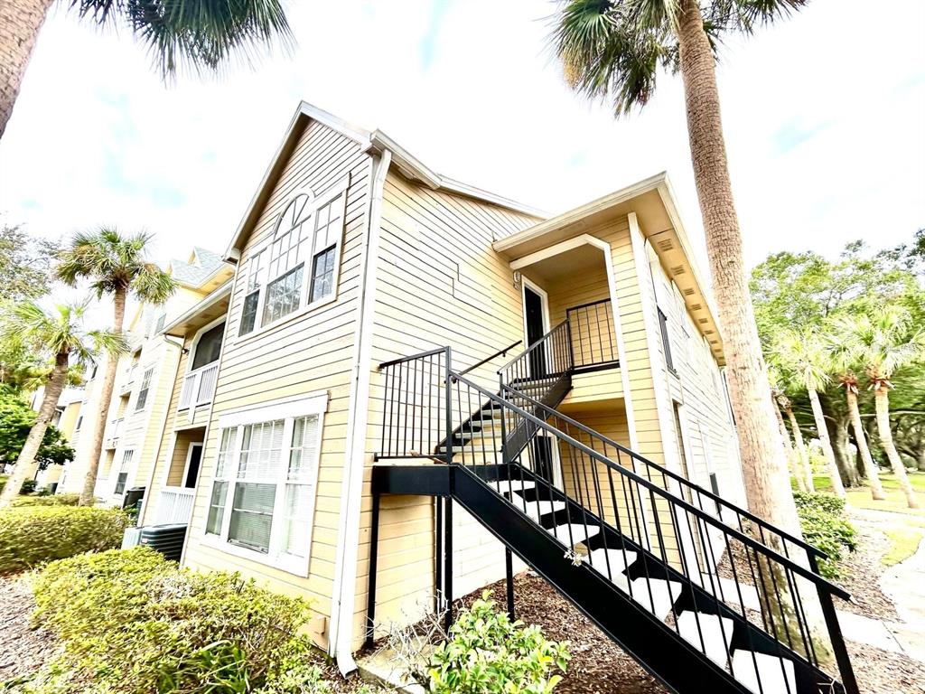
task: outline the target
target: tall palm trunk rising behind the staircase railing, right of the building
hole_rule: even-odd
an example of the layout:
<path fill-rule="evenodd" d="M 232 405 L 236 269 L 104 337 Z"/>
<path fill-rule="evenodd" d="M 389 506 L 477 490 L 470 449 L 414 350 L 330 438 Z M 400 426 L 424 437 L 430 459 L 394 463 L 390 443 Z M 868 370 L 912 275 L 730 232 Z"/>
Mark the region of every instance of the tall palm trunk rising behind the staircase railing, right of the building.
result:
<path fill-rule="evenodd" d="M 715 59 L 695 0 L 684 2 L 678 43 L 687 134 L 707 236 L 709 269 L 720 309 L 748 508 L 774 525 L 799 534 L 787 462 L 767 395 L 768 368 L 748 292 L 742 235 L 722 137 Z"/>

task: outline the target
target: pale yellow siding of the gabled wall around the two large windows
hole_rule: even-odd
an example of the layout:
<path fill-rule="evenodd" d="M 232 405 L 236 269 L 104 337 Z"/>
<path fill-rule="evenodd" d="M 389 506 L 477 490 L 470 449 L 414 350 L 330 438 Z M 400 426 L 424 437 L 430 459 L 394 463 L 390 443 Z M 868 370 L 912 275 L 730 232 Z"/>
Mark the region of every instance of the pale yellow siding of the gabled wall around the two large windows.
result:
<path fill-rule="evenodd" d="M 242 249 L 228 309 L 228 327 L 211 424 L 203 449 L 201 481 L 184 559 L 186 564 L 201 568 L 240 570 L 271 589 L 311 599 L 314 612 L 321 615 L 313 626 L 314 638 L 321 644 L 327 640 L 325 619 L 330 615 L 334 577 L 370 162 L 358 144 L 316 121 L 310 121 Z M 240 338 L 240 312 L 245 291 L 241 274 L 246 271 L 250 252 L 261 247 L 273 234 L 277 217 L 294 192 L 307 186 L 315 194 L 320 194 L 348 175 L 350 186 L 347 189 L 337 300 L 308 313 L 297 312 L 283 317 L 270 328 Z M 322 432 L 309 576 L 295 576 L 203 542 L 205 515 L 215 471 L 218 418 L 241 408 L 319 392 L 327 392 L 328 403 Z"/>

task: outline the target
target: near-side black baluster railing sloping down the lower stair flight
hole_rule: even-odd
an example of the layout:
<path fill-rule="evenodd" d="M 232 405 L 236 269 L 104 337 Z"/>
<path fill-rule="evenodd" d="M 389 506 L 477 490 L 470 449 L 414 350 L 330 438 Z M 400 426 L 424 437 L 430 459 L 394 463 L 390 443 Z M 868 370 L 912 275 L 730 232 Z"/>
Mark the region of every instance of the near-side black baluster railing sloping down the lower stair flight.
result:
<path fill-rule="evenodd" d="M 742 529 L 729 527 L 721 519 L 713 514 L 709 514 L 694 504 L 686 502 L 683 498 L 678 497 L 672 491 L 660 487 L 657 483 L 638 475 L 633 470 L 621 465 L 619 459 L 622 454 L 627 454 L 631 458 L 637 457 L 633 452 L 624 452 L 621 447 L 616 449 L 618 462 L 614 462 L 605 453 L 595 451 L 580 440 L 571 436 L 566 427 L 561 424 L 558 413 L 544 413 L 535 415 L 524 408 L 512 403 L 510 399 L 496 395 L 466 378 L 461 377 L 451 371 L 448 374 L 448 382 L 452 383 L 454 392 L 448 396 L 450 406 L 455 406 L 460 413 L 471 410 L 471 403 L 484 401 L 489 403 L 492 409 L 499 409 L 500 416 L 500 451 L 497 447 L 494 429 L 491 433 L 491 443 L 486 445 L 483 440 L 479 451 L 472 450 L 467 452 L 467 447 L 462 447 L 460 452 L 450 457 L 448 462 L 453 465 L 461 465 L 469 469 L 477 477 L 490 480 L 492 471 L 498 468 L 499 463 L 502 466 L 512 468 L 515 479 L 520 482 L 520 488 L 523 489 L 523 483 L 528 478 L 536 480 L 537 487 L 546 486 L 544 496 L 536 496 L 535 499 L 529 499 L 526 495 L 520 496 L 520 501 L 513 500 L 513 486 L 509 481 L 509 490 L 514 508 L 518 508 L 528 517 L 533 518 L 536 522 L 543 516 L 563 514 L 561 519 L 557 517 L 554 521 L 555 526 L 550 532 L 557 539 L 566 545 L 573 547 L 576 541 L 586 541 L 590 538 L 588 533 L 589 526 L 598 525 L 611 527 L 616 530 L 619 537 L 630 539 L 636 547 L 642 551 L 650 552 L 650 555 L 659 560 L 660 571 L 667 571 L 669 580 L 677 580 L 685 589 L 689 589 L 694 596 L 693 603 L 694 618 L 697 623 L 697 631 L 700 634 L 701 646 L 706 656 L 706 642 L 704 641 L 701 627 L 699 624 L 700 616 L 697 609 L 700 608 L 701 600 L 709 600 L 715 603 L 715 613 L 721 615 L 731 615 L 739 624 L 748 625 L 758 629 L 764 637 L 771 639 L 772 648 L 775 649 L 776 655 L 781 660 L 783 681 L 786 683 L 788 691 L 792 689 L 787 679 L 786 668 L 783 664 L 784 659 L 789 659 L 795 663 L 805 663 L 814 668 L 820 675 L 825 675 L 820 668 L 820 658 L 818 654 L 818 644 L 815 642 L 817 635 L 813 632 L 813 625 L 807 616 L 808 597 L 801 589 L 799 581 L 806 581 L 815 590 L 815 596 L 818 597 L 822 607 L 821 613 L 825 620 L 828 630 L 829 644 L 832 647 L 839 670 L 842 675 L 842 682 L 845 690 L 855 694 L 857 685 L 854 681 L 854 674 L 851 669 L 851 663 L 848 659 L 845 641 L 842 637 L 840 627 L 834 607 L 832 604 L 833 596 L 844 600 L 850 599 L 850 594 L 839 586 L 836 586 L 828 579 L 820 576 L 815 572 L 815 557 L 807 554 L 808 567 L 797 563 L 794 559 L 786 556 L 780 551 L 763 544 L 759 539 L 755 539 L 746 534 Z M 539 452 L 536 447 L 525 446 L 524 448 L 509 453 L 505 441 L 506 431 L 514 428 L 524 428 L 524 425 L 532 429 L 535 433 L 535 440 L 542 432 L 553 440 L 556 450 L 561 456 L 569 460 L 569 468 L 572 473 L 572 479 L 569 481 L 562 480 L 561 487 L 553 483 L 551 476 L 544 477 L 544 466 L 549 462 L 544 460 L 544 454 Z M 564 451 L 562 450 L 564 449 Z M 551 449 L 550 449 L 551 450 Z M 499 461 L 500 455 L 500 461 Z M 479 460 L 481 458 L 481 461 Z M 480 469 L 481 465 L 481 469 Z M 564 476 L 564 465 L 563 476 Z M 520 470 L 519 480 L 516 479 L 517 470 Z M 525 473 L 529 472 L 529 476 Z M 508 477 L 510 480 L 510 477 Z M 493 489 L 504 496 L 503 479 L 496 482 Z M 491 486 L 489 484 L 489 486 Z M 556 508 L 554 500 L 563 498 L 562 508 Z M 552 500 L 550 502 L 550 500 Z M 621 504 L 621 501 L 623 502 Z M 571 502 L 575 502 L 575 512 Z M 550 505 L 550 503 L 552 505 Z M 623 517 L 622 517 L 623 516 Z M 624 519 L 625 518 L 625 521 Z M 589 522 L 590 521 L 590 522 Z M 635 527 L 634 527 L 635 523 Z M 651 538 L 650 526 L 654 525 L 657 539 L 653 543 Z M 567 537 L 560 538 L 559 528 L 564 527 L 562 535 Z M 581 535 L 580 528 L 584 527 L 584 535 Z M 695 531 L 696 528 L 696 531 Z M 576 533 L 576 530 L 578 531 Z M 686 537 L 685 537 L 686 532 Z M 576 534 L 579 536 L 576 540 Z M 605 534 L 606 535 L 606 534 Z M 673 547 L 671 536 L 673 536 Z M 722 581 L 717 576 L 718 565 L 716 561 L 714 539 L 719 538 L 719 546 L 724 548 L 726 555 L 730 559 L 730 567 L 733 573 L 734 592 L 738 597 L 738 611 L 730 603 L 735 596 L 727 596 Z M 607 546 L 606 537 L 603 539 L 604 558 L 597 562 L 594 559 L 593 552 L 588 553 L 587 563 L 592 568 L 598 570 L 604 576 L 607 576 L 611 582 L 621 580 L 622 570 L 615 571 L 611 565 L 611 554 L 606 550 L 622 551 L 623 563 L 628 561 L 628 555 L 625 544 L 620 546 Z M 738 552 L 734 551 L 738 548 Z M 670 558 L 670 551 L 676 551 L 678 557 Z M 736 554 L 744 554 L 745 565 L 737 566 Z M 634 566 L 636 564 L 633 564 Z M 654 606 L 655 598 L 652 596 L 651 583 L 649 579 L 653 576 L 646 561 L 641 566 L 643 575 L 639 577 L 647 578 L 648 600 Z M 748 614 L 745 600 L 742 597 L 742 577 L 737 575 L 737 571 L 746 571 L 751 575 L 752 585 L 759 591 L 759 600 L 761 601 L 760 623 L 757 624 L 754 618 Z M 630 569 L 627 565 L 626 572 Z M 629 573 L 625 574 L 625 585 L 633 597 L 633 583 L 630 580 Z M 669 584 L 670 585 L 670 584 Z M 671 590 L 671 589 L 669 589 Z M 699 598 L 697 596 L 700 596 Z M 638 597 L 638 596 L 636 596 Z M 645 601 L 645 593 L 641 596 Z M 786 607 L 782 607 L 786 605 Z M 690 608 L 689 608 L 690 609 Z M 678 616 L 683 609 L 678 608 L 672 601 L 671 613 L 673 620 L 671 628 L 680 635 L 678 626 Z M 709 613 L 714 613 L 712 610 Z M 776 615 L 776 616 L 775 616 Z M 721 620 L 721 628 L 722 620 Z M 759 666 L 755 660 L 755 644 L 752 642 L 752 632 L 746 630 L 746 638 L 749 648 L 752 651 L 752 660 L 755 661 L 754 674 L 759 680 L 762 678 L 759 672 Z M 730 635 L 727 642 L 731 642 Z M 697 647 L 697 644 L 694 644 Z M 763 652 L 763 649 L 759 649 Z M 731 657 L 726 663 L 733 671 Z M 741 664 L 740 664 L 741 666 Z M 733 675 L 735 673 L 733 672 Z M 793 694 L 793 693 L 792 693 Z"/>

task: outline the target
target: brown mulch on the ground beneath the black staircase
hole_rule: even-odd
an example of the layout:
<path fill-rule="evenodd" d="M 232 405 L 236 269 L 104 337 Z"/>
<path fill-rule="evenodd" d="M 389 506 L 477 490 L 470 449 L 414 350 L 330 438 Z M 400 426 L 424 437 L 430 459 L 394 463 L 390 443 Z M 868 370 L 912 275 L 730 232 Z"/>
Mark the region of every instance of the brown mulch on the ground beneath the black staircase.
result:
<path fill-rule="evenodd" d="M 504 581 L 488 589 L 503 606 Z M 457 605 L 471 604 L 479 597 L 481 590 L 457 601 Z M 667 689 L 539 576 L 530 572 L 514 576 L 514 611 L 526 624 L 542 626 L 547 638 L 569 642 L 572 661 L 557 692 L 666 694 Z"/>

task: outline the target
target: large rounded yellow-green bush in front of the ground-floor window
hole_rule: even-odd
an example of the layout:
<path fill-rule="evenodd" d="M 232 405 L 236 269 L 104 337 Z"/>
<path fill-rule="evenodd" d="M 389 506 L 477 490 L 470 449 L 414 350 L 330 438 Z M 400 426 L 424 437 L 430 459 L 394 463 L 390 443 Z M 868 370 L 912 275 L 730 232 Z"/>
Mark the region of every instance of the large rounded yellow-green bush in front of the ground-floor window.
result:
<path fill-rule="evenodd" d="M 180 569 L 149 548 L 49 564 L 34 583 L 36 626 L 64 651 L 15 691 L 324 694 L 299 635 L 301 599 L 237 574 Z"/>

